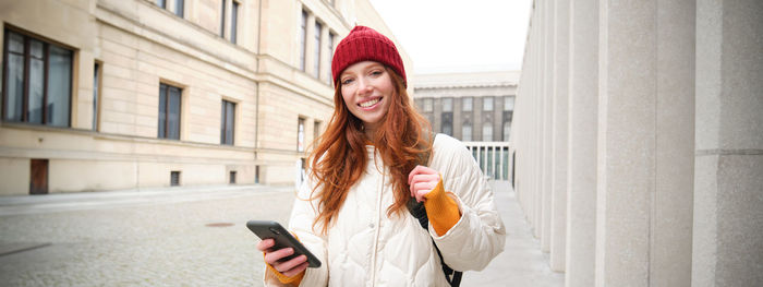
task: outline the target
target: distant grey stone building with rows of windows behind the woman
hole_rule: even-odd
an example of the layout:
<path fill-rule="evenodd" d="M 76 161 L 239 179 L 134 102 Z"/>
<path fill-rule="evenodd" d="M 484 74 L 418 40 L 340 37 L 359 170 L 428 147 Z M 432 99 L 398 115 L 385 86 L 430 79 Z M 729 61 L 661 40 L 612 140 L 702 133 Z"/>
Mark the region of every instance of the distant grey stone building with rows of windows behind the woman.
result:
<path fill-rule="evenodd" d="M 419 111 L 435 132 L 464 142 L 508 142 L 519 72 L 417 74 Z"/>

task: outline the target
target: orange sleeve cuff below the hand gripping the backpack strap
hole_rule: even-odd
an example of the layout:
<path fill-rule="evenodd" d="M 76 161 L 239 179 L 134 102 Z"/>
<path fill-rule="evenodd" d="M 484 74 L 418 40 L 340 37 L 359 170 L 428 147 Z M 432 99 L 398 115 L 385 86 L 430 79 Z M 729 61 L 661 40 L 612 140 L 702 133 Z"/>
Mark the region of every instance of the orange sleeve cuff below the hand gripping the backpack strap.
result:
<path fill-rule="evenodd" d="M 437 182 L 437 187 L 424 195 L 424 198 L 426 198 L 424 202 L 426 216 L 429 218 L 429 224 L 432 224 L 432 228 L 435 229 L 437 236 L 443 236 L 448 232 L 448 230 L 461 219 L 461 212 L 458 210 L 458 203 L 445 194 L 441 176 L 439 182 Z"/>

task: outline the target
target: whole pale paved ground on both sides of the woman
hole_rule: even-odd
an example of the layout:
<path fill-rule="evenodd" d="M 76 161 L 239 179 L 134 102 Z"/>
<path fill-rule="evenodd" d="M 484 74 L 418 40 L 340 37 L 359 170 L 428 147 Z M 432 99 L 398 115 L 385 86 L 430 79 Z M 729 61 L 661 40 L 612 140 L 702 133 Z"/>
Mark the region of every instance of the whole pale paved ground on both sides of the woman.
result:
<path fill-rule="evenodd" d="M 462 286 L 562 286 L 513 191 L 496 184 L 506 251 Z M 262 286 L 245 223 L 286 224 L 293 196 L 293 188 L 202 187 L 0 198 L 0 286 Z"/>

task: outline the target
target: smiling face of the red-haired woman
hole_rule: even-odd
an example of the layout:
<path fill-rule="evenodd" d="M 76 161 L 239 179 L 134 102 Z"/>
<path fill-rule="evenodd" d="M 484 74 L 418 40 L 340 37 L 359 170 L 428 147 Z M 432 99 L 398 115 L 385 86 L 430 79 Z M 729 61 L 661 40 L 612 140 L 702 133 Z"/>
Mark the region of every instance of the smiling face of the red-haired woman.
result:
<path fill-rule="evenodd" d="M 389 110 L 395 85 L 384 64 L 356 62 L 340 75 L 341 94 L 350 112 L 363 121 L 366 134 L 373 134 Z"/>

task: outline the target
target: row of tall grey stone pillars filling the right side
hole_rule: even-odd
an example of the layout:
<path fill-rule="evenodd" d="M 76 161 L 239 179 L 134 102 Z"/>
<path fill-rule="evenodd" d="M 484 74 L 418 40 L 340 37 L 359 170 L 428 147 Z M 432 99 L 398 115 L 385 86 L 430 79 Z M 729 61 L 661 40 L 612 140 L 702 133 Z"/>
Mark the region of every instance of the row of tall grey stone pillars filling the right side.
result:
<path fill-rule="evenodd" d="M 566 286 L 763 286 L 763 2 L 533 1 L 510 146 Z"/>

